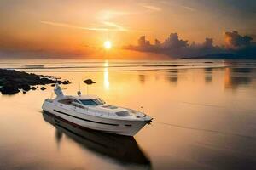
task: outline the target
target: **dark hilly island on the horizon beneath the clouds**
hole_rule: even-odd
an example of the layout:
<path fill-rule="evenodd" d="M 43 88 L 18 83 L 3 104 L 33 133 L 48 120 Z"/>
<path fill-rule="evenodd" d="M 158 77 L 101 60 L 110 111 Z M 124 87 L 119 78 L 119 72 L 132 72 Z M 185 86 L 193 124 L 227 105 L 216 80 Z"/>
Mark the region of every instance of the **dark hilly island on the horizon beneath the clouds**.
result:
<path fill-rule="evenodd" d="M 199 57 L 183 57 L 180 59 L 256 59 L 255 57 L 240 56 L 237 54 L 206 54 Z"/>

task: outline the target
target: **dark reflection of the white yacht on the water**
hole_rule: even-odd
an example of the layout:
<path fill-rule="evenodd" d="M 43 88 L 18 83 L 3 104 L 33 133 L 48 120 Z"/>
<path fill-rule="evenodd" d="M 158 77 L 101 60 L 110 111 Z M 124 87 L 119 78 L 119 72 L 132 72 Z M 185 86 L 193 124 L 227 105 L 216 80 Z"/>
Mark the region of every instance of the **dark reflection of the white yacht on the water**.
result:
<path fill-rule="evenodd" d="M 151 169 L 148 157 L 144 155 L 133 137 L 81 129 L 45 111 L 43 116 L 44 121 L 55 126 L 57 141 L 60 141 L 64 133 L 82 147 L 113 158 L 121 164 L 134 164 Z"/>

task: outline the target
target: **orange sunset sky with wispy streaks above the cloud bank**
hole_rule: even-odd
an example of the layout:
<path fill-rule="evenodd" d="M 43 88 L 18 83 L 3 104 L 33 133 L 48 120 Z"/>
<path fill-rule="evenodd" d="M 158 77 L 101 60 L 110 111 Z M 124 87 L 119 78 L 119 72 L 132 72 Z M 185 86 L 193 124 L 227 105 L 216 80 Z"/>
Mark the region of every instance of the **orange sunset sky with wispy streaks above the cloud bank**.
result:
<path fill-rule="evenodd" d="M 256 34 L 253 0 L 1 0 L 0 18 L 0 57 L 97 56 L 106 41 L 114 51 L 173 32 L 189 43 L 211 37 L 214 45 L 224 44 L 226 31 Z"/>

